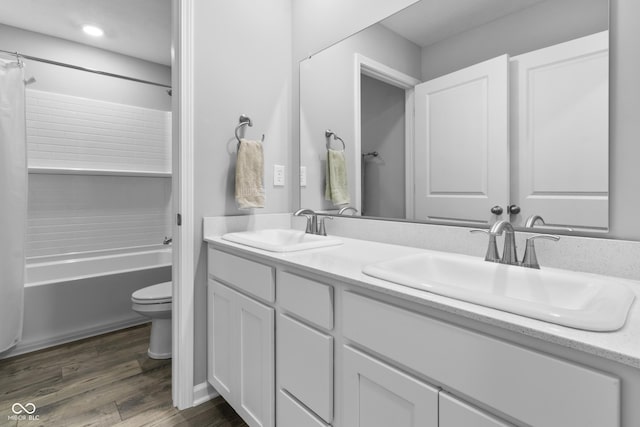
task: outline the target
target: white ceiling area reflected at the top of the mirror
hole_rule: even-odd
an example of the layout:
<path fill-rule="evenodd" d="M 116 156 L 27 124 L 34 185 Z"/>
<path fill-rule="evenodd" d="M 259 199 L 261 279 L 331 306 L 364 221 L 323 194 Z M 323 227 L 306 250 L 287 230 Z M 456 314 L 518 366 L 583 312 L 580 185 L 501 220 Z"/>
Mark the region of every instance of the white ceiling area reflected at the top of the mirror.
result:
<path fill-rule="evenodd" d="M 422 0 L 381 22 L 420 47 L 479 27 L 543 0 Z"/>

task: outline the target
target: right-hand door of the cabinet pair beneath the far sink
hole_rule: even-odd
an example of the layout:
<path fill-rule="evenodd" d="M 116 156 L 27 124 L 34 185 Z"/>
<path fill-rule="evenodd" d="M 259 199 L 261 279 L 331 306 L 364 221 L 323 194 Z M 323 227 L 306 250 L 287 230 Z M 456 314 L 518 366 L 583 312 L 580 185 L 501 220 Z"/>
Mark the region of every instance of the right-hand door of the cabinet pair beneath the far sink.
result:
<path fill-rule="evenodd" d="M 234 291 L 231 291 L 234 292 Z M 238 414 L 251 426 L 274 425 L 274 309 L 237 292 Z"/>

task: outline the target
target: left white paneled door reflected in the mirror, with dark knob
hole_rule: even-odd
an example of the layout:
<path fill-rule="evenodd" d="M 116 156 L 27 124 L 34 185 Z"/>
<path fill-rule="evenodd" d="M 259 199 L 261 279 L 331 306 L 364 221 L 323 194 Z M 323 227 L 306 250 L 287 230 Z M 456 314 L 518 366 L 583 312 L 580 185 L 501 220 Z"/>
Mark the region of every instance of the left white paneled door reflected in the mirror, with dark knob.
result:
<path fill-rule="evenodd" d="M 508 56 L 416 86 L 415 219 L 487 224 L 509 196 Z"/>

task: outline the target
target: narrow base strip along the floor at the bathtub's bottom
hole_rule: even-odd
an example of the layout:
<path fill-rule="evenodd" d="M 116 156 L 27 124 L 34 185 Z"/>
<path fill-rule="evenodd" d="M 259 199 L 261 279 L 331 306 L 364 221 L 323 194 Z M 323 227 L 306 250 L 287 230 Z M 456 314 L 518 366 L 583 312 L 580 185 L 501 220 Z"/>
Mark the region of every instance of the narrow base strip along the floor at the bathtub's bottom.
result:
<path fill-rule="evenodd" d="M 16 344 L 13 349 L 8 350 L 5 353 L 0 353 L 0 359 L 8 359 L 20 354 L 31 353 L 33 351 L 42 350 L 49 347 L 55 347 L 60 344 L 66 344 L 72 341 L 81 340 L 84 338 L 93 337 L 96 335 L 106 334 L 108 332 L 117 331 L 120 329 L 129 328 L 131 326 L 141 325 L 148 323 L 149 319 L 137 316 L 133 319 L 122 320 L 119 322 L 107 323 L 103 325 L 94 326 L 92 328 L 76 330 L 66 334 L 40 339 L 37 341 L 24 342 L 21 341 Z"/>

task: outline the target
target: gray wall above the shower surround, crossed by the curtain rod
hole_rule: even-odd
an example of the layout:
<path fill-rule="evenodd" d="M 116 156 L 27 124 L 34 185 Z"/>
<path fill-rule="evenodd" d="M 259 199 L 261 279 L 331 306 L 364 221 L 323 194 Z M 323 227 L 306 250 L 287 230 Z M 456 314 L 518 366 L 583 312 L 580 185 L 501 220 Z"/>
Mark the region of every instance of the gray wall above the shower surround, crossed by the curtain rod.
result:
<path fill-rule="evenodd" d="M 0 49 L 18 51 L 81 67 L 171 84 L 171 68 L 103 49 L 0 24 Z M 31 89 L 102 101 L 171 110 L 165 88 L 25 60 L 25 76 L 35 77 Z"/>

